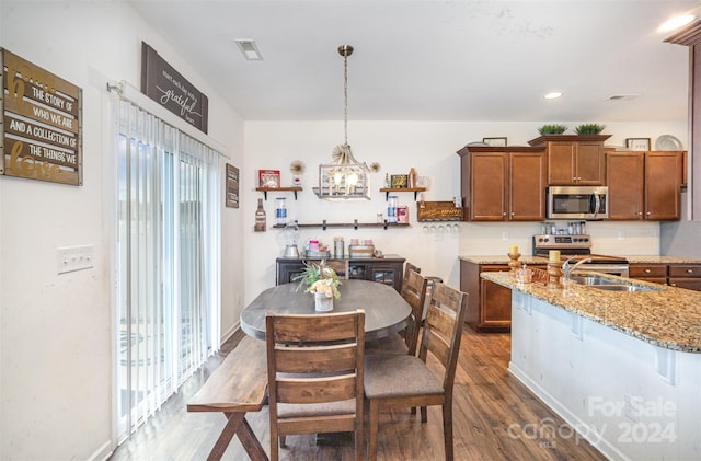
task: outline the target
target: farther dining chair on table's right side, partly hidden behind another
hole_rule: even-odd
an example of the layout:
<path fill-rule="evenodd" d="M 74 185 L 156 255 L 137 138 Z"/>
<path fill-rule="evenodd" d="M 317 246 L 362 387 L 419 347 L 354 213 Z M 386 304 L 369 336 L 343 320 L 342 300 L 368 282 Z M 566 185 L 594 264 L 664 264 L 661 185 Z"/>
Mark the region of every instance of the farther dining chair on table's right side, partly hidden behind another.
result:
<path fill-rule="evenodd" d="M 428 280 L 421 274 L 409 270 L 402 281 L 402 298 L 411 306 L 409 323 L 397 334 L 369 341 L 365 345 L 365 355 L 400 354 L 416 355 L 416 342 L 421 331 L 422 315 Z"/>

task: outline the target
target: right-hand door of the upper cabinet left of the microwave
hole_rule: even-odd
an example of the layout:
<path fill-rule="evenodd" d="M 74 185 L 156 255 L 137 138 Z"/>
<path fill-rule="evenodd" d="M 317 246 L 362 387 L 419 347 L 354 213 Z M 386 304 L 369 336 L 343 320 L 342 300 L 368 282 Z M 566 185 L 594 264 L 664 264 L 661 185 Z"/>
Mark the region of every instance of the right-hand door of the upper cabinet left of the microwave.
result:
<path fill-rule="evenodd" d="M 509 216 L 512 221 L 545 219 L 545 153 L 509 154 Z"/>

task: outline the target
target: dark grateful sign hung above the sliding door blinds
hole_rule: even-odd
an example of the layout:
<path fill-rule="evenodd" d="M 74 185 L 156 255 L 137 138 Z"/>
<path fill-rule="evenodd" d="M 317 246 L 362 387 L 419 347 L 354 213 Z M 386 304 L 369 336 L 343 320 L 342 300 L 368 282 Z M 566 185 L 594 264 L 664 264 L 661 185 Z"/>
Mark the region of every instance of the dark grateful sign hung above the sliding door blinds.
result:
<path fill-rule="evenodd" d="M 145 42 L 141 42 L 141 92 L 195 128 L 207 132 L 207 96 Z"/>

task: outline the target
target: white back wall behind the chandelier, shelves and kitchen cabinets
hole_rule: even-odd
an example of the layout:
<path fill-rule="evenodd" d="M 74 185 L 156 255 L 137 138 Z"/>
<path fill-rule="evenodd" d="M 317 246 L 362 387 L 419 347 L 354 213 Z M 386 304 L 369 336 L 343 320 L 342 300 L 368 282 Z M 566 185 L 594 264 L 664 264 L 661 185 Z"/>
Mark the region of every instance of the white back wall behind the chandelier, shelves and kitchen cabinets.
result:
<path fill-rule="evenodd" d="M 352 118 L 350 114 L 350 118 Z M 686 120 L 660 123 L 620 123 L 598 120 L 607 126 L 605 134 L 611 134 L 607 146 L 624 146 L 625 138 L 650 137 L 671 134 L 687 139 Z M 379 162 L 381 171 L 374 173 L 370 201 L 325 201 L 311 191 L 319 180 L 319 164 L 331 161 L 333 148 L 343 142 L 342 122 L 246 122 L 246 163 L 243 173 L 245 198 L 245 229 L 251 244 L 246 245 L 246 303 L 260 290 L 275 284 L 275 258 L 285 249 L 285 232 L 268 229 L 265 233 L 253 232 L 256 199 L 263 197 L 254 192 L 258 169 L 280 170 L 283 185 L 290 185 L 289 164 L 302 160 L 307 165 L 303 175 L 303 192 L 295 201 L 291 194 L 285 195 L 288 216 L 299 222 L 375 222 L 377 212 L 387 212 L 384 194 L 379 192 L 384 174 L 407 173 L 415 168 L 418 175 L 430 178 L 426 200 L 450 200 L 460 195 L 460 158 L 456 153 L 462 146 L 481 141 L 483 137 L 508 138 L 508 143 L 527 146 L 537 138 L 538 127 L 543 122 L 348 122 L 348 143 L 357 160 L 368 164 Z M 578 122 L 566 123 L 575 127 Z M 540 223 L 460 223 L 459 231 L 451 226 L 444 231 L 428 229 L 416 222 L 416 206 L 413 194 L 400 193 L 401 204 L 410 206 L 409 229 L 321 229 L 302 230 L 299 235 L 300 249 L 311 237 L 319 237 L 324 243 L 332 243 L 334 235 L 344 237 L 346 244 L 350 238 L 369 238 L 376 247 L 384 253 L 400 254 L 422 268 L 423 274 L 441 277 L 455 287 L 459 286 L 458 255 L 506 254 L 509 245 L 519 245 L 524 254 L 531 252 L 531 237 L 540 232 Z M 269 194 L 265 203 L 268 228 L 275 216 L 275 197 Z M 593 235 L 593 251 L 614 255 L 659 254 L 659 223 L 657 222 L 589 222 Z"/>

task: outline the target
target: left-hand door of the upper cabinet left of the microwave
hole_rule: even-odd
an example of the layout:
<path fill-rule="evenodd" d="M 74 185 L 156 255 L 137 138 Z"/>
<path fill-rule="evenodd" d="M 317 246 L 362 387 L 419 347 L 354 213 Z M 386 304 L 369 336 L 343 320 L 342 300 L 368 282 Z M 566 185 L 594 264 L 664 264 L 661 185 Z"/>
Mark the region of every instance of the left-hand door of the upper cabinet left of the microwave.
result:
<path fill-rule="evenodd" d="M 506 220 L 507 154 L 471 154 L 470 219 Z"/>

